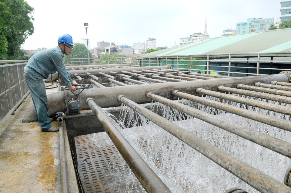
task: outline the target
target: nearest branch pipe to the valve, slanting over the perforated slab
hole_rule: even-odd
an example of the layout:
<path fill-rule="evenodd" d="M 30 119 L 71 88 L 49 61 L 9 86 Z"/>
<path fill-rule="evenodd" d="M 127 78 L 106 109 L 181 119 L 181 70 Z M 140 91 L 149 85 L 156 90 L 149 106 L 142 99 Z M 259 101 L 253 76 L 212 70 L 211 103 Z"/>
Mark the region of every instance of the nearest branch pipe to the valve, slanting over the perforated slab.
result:
<path fill-rule="evenodd" d="M 162 182 L 154 171 L 146 164 L 140 155 L 133 149 L 129 142 L 122 136 L 118 129 L 110 122 L 107 116 L 102 112 L 100 107 L 93 99 L 88 98 L 87 104 L 102 124 L 103 129 L 108 134 L 125 162 L 129 165 L 136 178 L 145 188 L 146 192 L 152 193 L 170 193 L 170 189 Z"/>

